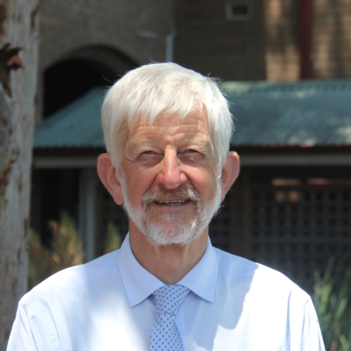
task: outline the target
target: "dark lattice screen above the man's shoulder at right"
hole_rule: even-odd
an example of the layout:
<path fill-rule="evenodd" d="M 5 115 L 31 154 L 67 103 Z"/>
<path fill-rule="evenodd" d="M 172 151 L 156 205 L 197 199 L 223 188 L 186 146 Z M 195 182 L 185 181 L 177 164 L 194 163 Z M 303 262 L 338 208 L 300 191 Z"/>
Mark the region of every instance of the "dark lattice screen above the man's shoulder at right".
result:
<path fill-rule="evenodd" d="M 263 187 L 251 190 L 253 260 L 308 278 L 330 256 L 350 266 L 350 187 Z"/>

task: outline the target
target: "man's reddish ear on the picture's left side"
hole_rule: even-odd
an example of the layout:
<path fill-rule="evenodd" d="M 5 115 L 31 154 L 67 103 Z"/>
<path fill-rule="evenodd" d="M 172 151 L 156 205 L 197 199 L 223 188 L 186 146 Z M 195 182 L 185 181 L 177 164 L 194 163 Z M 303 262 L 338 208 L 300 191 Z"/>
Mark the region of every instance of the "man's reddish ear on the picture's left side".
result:
<path fill-rule="evenodd" d="M 100 154 L 98 157 L 98 175 L 114 202 L 118 205 L 123 204 L 121 183 L 117 177 L 116 168 L 112 165 L 110 154 Z"/>

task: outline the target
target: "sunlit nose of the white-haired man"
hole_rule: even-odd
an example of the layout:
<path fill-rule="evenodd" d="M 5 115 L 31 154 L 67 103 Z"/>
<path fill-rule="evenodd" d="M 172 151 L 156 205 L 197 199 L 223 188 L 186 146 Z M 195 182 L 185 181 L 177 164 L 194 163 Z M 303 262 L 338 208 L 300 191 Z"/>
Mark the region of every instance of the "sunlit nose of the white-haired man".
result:
<path fill-rule="evenodd" d="M 161 161 L 161 170 L 156 178 L 157 183 L 169 190 L 176 189 L 179 185 L 185 183 L 187 178 L 185 173 L 181 171 L 180 166 L 177 151 L 166 149 L 164 159 Z"/>

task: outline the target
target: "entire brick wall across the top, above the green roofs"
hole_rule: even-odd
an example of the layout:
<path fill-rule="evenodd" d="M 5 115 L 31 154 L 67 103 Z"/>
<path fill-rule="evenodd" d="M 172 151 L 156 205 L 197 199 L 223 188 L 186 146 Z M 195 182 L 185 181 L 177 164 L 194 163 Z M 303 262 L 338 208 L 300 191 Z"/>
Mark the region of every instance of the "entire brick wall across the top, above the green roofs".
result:
<path fill-rule="evenodd" d="M 82 47 L 164 61 L 174 25 L 180 65 L 225 80 L 297 80 L 300 0 L 247 0 L 248 18 L 230 20 L 228 4 L 242 1 L 43 0 L 39 72 Z M 351 77 L 351 1 L 314 0 L 312 25 L 314 77 Z"/>

